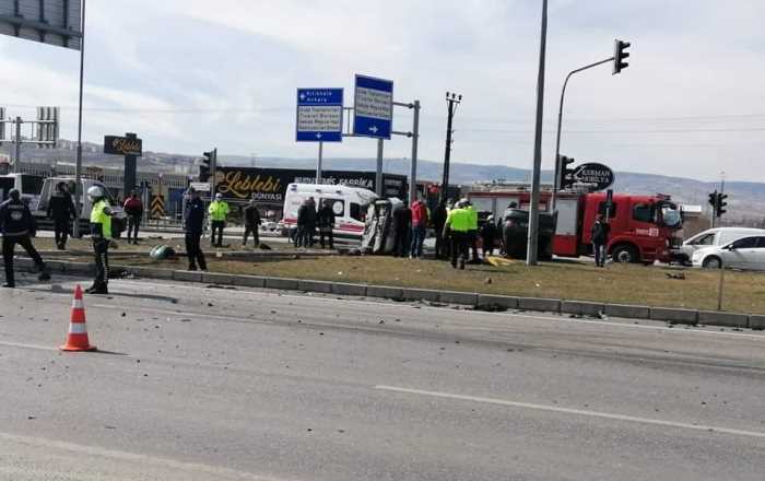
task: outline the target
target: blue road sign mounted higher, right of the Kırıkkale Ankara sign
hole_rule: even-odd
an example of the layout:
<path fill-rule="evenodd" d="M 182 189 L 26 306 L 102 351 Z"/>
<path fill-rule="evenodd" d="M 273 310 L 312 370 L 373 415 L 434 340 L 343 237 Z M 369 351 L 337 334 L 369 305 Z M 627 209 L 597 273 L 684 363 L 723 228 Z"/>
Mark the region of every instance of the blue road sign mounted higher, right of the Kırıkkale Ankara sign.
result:
<path fill-rule="evenodd" d="M 393 127 L 393 82 L 356 74 L 353 133 L 390 139 Z"/>

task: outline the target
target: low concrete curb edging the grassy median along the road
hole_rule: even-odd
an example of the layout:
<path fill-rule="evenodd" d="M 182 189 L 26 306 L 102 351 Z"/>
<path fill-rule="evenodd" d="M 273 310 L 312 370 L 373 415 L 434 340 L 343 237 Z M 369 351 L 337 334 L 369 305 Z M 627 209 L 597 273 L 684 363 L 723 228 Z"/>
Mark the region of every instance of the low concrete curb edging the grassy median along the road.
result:
<path fill-rule="evenodd" d="M 1 265 L 2 262 L 0 262 Z M 94 266 L 85 262 L 50 260 L 46 262 L 51 272 L 70 274 L 92 274 Z M 15 267 L 34 270 L 31 259 L 15 259 Z M 238 275 L 216 272 L 183 271 L 157 269 L 152 267 L 111 266 L 111 270 L 146 279 L 175 280 L 180 282 L 201 282 L 208 284 L 232 284 L 247 288 L 274 289 L 287 291 L 306 291 L 323 294 L 349 295 L 358 297 L 378 297 L 395 301 L 426 301 L 445 304 L 459 304 L 473 308 L 505 308 L 563 313 L 584 316 L 607 316 L 629 319 L 663 320 L 673 324 L 704 324 L 734 328 L 765 329 L 765 315 L 748 315 L 715 310 L 694 310 L 671 307 L 649 307 L 626 304 L 601 304 L 586 301 L 568 301 L 541 297 L 516 297 L 509 295 L 481 294 L 459 291 L 435 291 L 428 289 L 395 288 L 389 285 L 366 285 L 345 282 L 315 281 L 303 279 L 267 278 L 259 275 Z"/>

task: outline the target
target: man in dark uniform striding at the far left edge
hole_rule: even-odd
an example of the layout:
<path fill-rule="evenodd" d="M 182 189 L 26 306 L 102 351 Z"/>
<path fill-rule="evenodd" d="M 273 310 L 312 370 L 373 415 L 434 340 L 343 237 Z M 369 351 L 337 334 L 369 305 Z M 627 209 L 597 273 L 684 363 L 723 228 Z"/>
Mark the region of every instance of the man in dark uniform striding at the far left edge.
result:
<path fill-rule="evenodd" d="M 16 244 L 22 246 L 39 270 L 40 281 L 50 280 L 45 262 L 32 245 L 31 236 L 35 234 L 35 220 L 30 208 L 21 200 L 21 192 L 11 189 L 9 199 L 0 203 L 0 232 L 2 232 L 2 260 L 5 263 L 5 283 L 3 288 L 15 288 L 13 277 L 13 254 Z"/>

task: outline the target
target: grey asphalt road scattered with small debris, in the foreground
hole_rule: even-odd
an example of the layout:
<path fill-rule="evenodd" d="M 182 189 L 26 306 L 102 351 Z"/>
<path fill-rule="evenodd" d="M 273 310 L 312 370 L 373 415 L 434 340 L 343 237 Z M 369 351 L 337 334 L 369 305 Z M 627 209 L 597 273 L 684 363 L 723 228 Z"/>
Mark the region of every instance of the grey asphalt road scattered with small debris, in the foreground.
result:
<path fill-rule="evenodd" d="M 73 278 L 0 290 L 2 480 L 763 480 L 765 336 Z M 84 282 L 83 282 L 84 283 Z"/>

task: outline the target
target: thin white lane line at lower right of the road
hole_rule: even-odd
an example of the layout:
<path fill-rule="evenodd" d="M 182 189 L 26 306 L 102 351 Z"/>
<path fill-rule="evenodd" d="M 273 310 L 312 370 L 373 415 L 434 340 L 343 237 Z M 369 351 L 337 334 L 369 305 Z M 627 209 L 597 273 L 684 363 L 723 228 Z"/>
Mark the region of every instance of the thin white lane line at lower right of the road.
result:
<path fill-rule="evenodd" d="M 375 386 L 375 389 L 393 391 L 393 392 L 403 392 L 403 394 L 409 394 L 409 395 L 431 396 L 431 397 L 444 398 L 444 399 L 457 399 L 460 401 L 482 402 L 485 404 L 508 406 L 511 408 L 532 409 L 532 410 L 537 410 L 537 411 L 556 412 L 556 413 L 562 413 L 562 414 L 585 415 L 585 417 L 590 417 L 590 418 L 602 418 L 602 419 L 610 419 L 610 420 L 615 420 L 615 421 L 626 421 L 626 422 L 640 423 L 640 424 L 652 424 L 652 425 L 667 426 L 667 427 L 679 427 L 679 429 L 685 429 L 685 430 L 707 431 L 707 432 L 716 432 L 716 433 L 725 433 L 725 434 L 734 434 L 734 435 L 739 435 L 739 436 L 765 438 L 765 433 L 761 433 L 761 432 L 756 432 L 756 431 L 741 431 L 741 430 L 733 430 L 730 427 L 711 426 L 711 425 L 705 425 L 705 424 L 688 424 L 688 423 L 681 423 L 681 422 L 674 422 L 674 421 L 662 421 L 662 420 L 650 419 L 650 418 L 639 418 L 639 417 L 634 417 L 634 415 L 612 414 L 609 412 L 589 411 L 589 410 L 581 410 L 581 409 L 558 408 L 556 406 L 536 404 L 536 403 L 531 403 L 531 402 L 508 401 L 508 400 L 504 400 L 504 399 L 482 398 L 482 397 L 478 397 L 478 396 L 455 395 L 455 394 L 449 394 L 449 392 L 428 391 L 428 390 L 422 390 L 422 389 L 410 389 L 410 388 L 405 388 L 405 387 L 396 387 L 396 386 L 377 385 L 377 386 Z"/>

